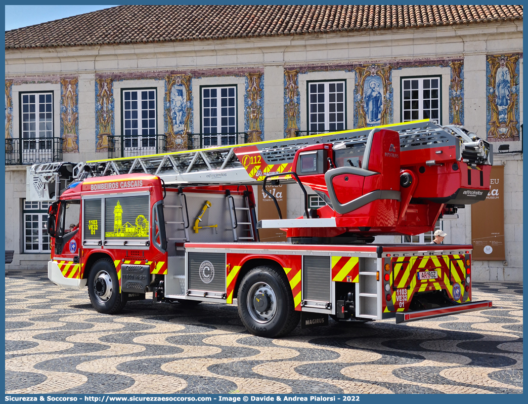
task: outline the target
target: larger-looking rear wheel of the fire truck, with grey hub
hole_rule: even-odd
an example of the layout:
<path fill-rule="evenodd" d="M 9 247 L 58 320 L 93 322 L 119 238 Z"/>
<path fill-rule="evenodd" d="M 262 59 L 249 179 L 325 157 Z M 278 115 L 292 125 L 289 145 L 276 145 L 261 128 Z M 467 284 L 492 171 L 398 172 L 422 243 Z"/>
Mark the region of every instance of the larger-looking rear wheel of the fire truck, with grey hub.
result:
<path fill-rule="evenodd" d="M 300 311 L 294 309 L 290 284 L 282 268 L 253 268 L 242 279 L 237 300 L 240 319 L 253 335 L 279 337 L 299 324 Z"/>

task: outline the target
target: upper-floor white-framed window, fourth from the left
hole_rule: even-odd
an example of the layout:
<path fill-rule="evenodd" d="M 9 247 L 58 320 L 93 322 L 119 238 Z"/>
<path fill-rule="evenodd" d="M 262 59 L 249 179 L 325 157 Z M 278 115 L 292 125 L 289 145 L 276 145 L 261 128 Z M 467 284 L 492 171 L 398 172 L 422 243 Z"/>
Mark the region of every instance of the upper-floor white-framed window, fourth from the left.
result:
<path fill-rule="evenodd" d="M 308 82 L 308 130 L 344 131 L 345 82 Z"/>

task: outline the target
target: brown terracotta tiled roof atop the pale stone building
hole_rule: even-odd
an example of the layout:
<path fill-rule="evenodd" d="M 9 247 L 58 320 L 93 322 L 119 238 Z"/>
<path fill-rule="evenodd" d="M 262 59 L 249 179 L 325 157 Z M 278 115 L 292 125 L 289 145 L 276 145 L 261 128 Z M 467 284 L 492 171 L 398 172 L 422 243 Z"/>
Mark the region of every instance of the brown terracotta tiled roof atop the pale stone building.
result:
<path fill-rule="evenodd" d="M 6 31 L 5 48 L 306 35 L 522 18 L 522 5 L 126 5 Z"/>

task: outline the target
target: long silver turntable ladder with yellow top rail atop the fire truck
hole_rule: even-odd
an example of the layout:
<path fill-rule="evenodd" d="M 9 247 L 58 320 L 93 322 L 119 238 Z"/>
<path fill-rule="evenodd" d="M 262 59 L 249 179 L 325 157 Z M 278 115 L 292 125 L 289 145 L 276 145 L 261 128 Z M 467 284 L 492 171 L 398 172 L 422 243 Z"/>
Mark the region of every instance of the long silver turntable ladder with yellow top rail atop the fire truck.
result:
<path fill-rule="evenodd" d="M 423 120 L 383 125 L 399 132 L 402 152 L 424 147 L 454 145 L 456 159 L 469 159 L 472 164 L 492 164 L 492 150 L 488 142 L 479 140 L 472 132 L 455 125 L 441 126 Z M 147 173 L 161 178 L 167 186 L 200 185 L 257 185 L 265 174 L 250 175 L 238 155 L 259 156 L 267 167 L 293 163 L 297 150 L 320 143 L 334 148 L 364 145 L 376 127 L 360 128 L 335 133 L 324 133 L 295 138 L 248 144 L 218 146 L 201 150 L 183 150 L 139 157 L 124 157 L 86 163 L 34 164 L 27 176 L 28 200 L 57 199 L 68 181 L 82 181 L 88 177 L 101 177 L 131 173 Z M 238 154 L 238 155 L 237 155 Z M 62 173 L 66 174 L 62 174 Z M 60 173 L 60 175 L 59 175 Z M 56 181 L 60 180 L 60 186 Z M 281 179 L 281 182 L 293 182 Z"/>

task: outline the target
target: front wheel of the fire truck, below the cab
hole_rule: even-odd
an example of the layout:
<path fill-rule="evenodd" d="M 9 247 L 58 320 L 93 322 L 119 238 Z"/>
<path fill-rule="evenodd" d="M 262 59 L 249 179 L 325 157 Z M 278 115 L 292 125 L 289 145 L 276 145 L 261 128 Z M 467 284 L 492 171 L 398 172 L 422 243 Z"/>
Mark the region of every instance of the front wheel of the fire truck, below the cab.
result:
<path fill-rule="evenodd" d="M 119 293 L 116 267 L 107 258 L 97 260 L 88 276 L 90 302 L 99 313 L 116 314 L 127 304 L 127 293 Z"/>

